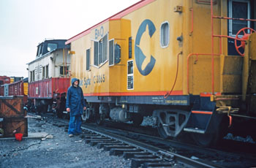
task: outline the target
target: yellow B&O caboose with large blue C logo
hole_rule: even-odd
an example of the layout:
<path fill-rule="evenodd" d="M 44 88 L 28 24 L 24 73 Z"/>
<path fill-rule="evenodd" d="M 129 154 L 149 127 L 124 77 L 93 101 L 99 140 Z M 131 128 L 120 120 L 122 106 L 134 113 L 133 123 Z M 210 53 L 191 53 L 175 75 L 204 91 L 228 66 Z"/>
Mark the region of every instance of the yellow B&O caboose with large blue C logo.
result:
<path fill-rule="evenodd" d="M 67 40 L 83 119 L 153 116 L 159 135 L 256 139 L 252 0 L 143 0 Z"/>

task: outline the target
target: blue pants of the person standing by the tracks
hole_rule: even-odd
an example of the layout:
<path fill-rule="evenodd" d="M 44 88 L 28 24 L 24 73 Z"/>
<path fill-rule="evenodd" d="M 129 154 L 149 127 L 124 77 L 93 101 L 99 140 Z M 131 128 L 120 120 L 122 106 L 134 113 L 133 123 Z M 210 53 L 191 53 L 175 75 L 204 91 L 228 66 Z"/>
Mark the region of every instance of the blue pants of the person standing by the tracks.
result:
<path fill-rule="evenodd" d="M 81 115 L 72 115 L 72 116 L 70 116 L 68 134 L 80 134 L 80 133 L 82 133 L 81 124 L 82 124 Z"/>

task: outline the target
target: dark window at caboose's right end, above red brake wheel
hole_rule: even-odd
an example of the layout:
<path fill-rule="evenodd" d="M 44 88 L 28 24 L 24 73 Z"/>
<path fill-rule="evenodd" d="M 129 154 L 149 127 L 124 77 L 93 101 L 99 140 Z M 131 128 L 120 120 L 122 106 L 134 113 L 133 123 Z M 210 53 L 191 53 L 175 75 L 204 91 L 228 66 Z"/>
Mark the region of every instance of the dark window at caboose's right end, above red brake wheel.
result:
<path fill-rule="evenodd" d="M 230 18 L 250 18 L 249 0 L 230 0 L 229 1 Z M 229 35 L 236 36 L 236 33 L 244 27 L 250 27 L 249 21 L 244 20 L 229 20 Z"/>

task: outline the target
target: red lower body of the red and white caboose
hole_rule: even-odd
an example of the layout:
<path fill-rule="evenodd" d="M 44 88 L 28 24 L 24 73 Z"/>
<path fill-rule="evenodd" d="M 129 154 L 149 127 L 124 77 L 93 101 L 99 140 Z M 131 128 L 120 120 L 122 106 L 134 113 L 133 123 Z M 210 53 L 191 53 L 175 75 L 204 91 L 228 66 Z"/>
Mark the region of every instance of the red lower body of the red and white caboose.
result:
<path fill-rule="evenodd" d="M 54 93 L 66 93 L 69 85 L 69 77 L 53 77 L 29 83 L 29 99 L 53 99 Z"/>

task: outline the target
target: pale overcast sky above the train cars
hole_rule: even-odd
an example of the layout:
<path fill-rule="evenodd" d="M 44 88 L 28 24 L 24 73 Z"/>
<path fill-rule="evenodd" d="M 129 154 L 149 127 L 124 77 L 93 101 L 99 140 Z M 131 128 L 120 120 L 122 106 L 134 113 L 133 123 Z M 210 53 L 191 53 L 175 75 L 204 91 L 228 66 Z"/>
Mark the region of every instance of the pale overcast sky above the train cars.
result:
<path fill-rule="evenodd" d="M 0 76 L 28 77 L 45 38 L 69 39 L 140 0 L 0 0 Z"/>

